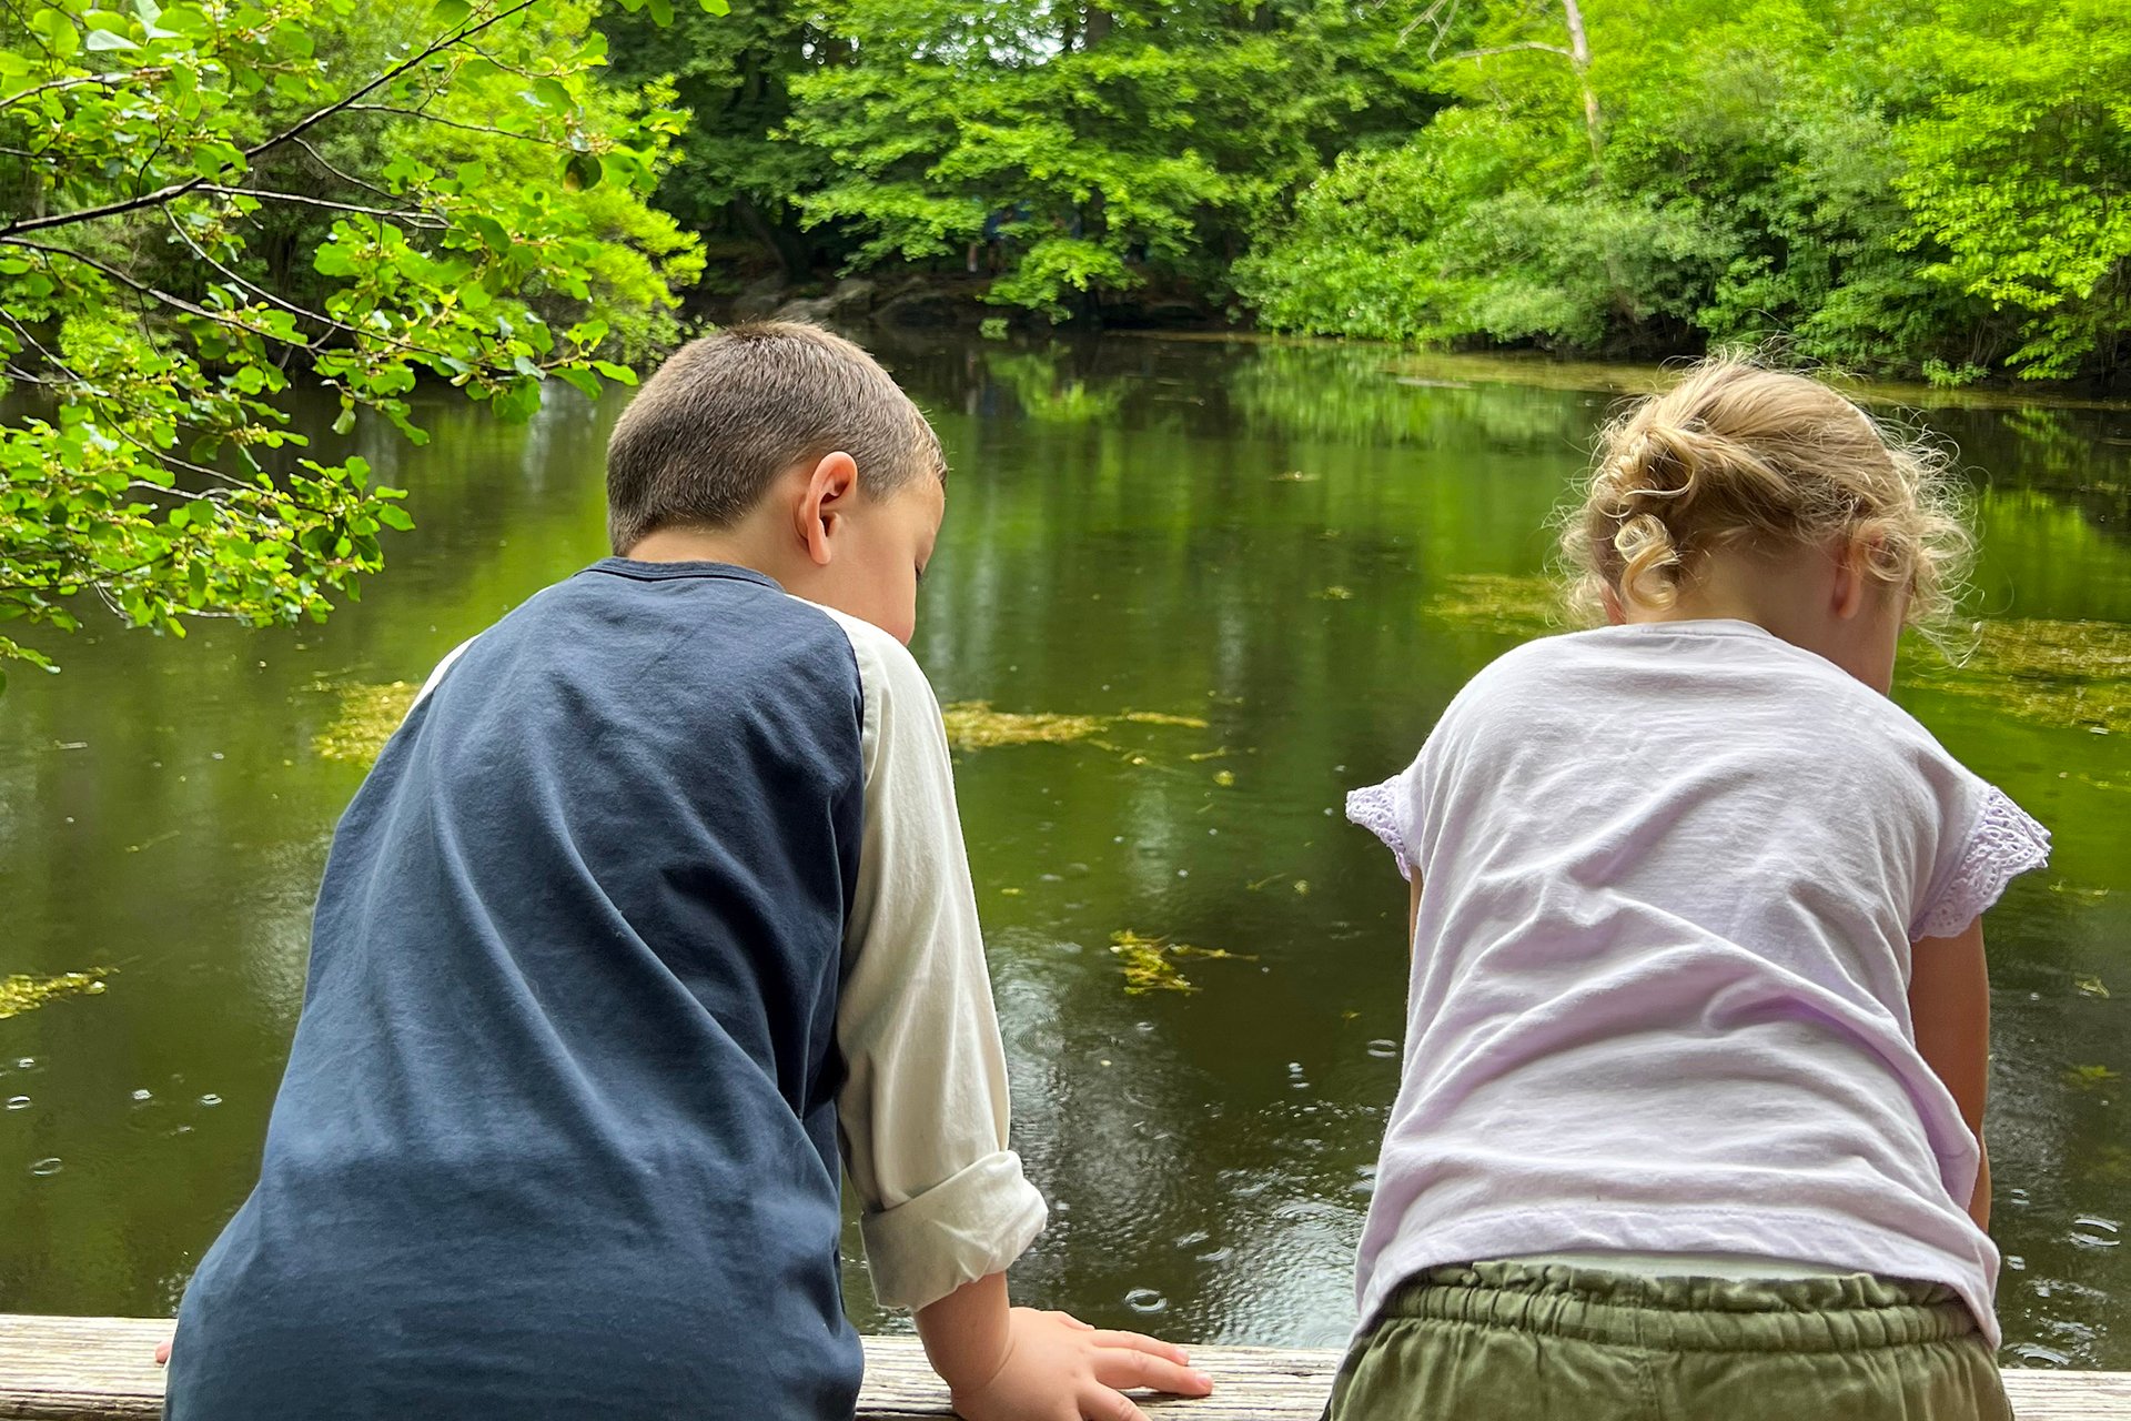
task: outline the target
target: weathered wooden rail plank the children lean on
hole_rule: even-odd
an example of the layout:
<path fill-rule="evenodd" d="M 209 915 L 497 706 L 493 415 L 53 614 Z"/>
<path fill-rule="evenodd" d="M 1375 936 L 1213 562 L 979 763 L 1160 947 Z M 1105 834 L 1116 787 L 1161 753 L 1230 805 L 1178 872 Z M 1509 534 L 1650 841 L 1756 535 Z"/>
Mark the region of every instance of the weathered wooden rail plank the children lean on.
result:
<path fill-rule="evenodd" d="M 6 1421 L 141 1421 L 162 1415 L 156 1344 L 170 1323 L 132 1317 L 0 1314 L 0 1417 Z M 1176 1421 L 1315 1421 L 1338 1353 L 1193 1346 L 1219 1391 L 1204 1402 L 1151 1400 Z M 2005 1372 L 2020 1421 L 2131 1421 L 2131 1372 Z M 938 1421 L 946 1391 L 912 1338 L 865 1338 L 859 1421 Z"/>

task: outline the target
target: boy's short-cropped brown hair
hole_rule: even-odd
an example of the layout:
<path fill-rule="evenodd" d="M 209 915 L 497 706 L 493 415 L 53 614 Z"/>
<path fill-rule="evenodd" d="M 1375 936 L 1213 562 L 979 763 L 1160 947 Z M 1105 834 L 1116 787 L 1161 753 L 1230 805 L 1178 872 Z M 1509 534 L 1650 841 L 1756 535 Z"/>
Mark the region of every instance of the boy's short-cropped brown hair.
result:
<path fill-rule="evenodd" d="M 733 326 L 658 366 L 607 441 L 607 541 L 739 522 L 793 464 L 842 450 L 886 496 L 946 477 L 940 439 L 872 356 L 799 322 Z"/>

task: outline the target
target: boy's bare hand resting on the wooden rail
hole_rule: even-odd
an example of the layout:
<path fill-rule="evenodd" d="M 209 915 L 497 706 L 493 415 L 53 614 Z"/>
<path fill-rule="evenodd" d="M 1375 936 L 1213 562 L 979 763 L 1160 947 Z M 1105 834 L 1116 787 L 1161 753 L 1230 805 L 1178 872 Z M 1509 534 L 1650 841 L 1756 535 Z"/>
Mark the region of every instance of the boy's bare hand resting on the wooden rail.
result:
<path fill-rule="evenodd" d="M 1146 1421 L 1127 1387 L 1206 1395 L 1181 1346 L 1136 1332 L 1097 1332 L 1066 1312 L 1014 1308 L 1006 1353 L 982 1383 L 953 1387 L 965 1421 Z"/>

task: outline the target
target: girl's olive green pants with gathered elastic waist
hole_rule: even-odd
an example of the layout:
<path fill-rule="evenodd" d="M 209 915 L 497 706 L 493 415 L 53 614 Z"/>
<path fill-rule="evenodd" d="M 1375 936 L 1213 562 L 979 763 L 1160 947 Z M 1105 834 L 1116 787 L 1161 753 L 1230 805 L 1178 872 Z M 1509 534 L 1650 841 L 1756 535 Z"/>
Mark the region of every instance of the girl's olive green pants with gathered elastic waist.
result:
<path fill-rule="evenodd" d="M 1867 1274 L 1436 1268 L 1347 1353 L 1330 1421 L 2010 1421 L 1967 1306 Z"/>

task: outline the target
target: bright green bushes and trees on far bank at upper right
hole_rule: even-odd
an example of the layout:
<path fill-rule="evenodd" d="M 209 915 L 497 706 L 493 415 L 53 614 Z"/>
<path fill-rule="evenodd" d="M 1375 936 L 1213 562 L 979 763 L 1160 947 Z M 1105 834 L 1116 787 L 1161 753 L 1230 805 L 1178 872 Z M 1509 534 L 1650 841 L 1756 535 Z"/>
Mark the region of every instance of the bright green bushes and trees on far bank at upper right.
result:
<path fill-rule="evenodd" d="M 1345 153 L 1236 266 L 1268 324 L 1594 354 L 1779 339 L 1937 381 L 2112 369 L 2120 11 L 1590 0 L 1581 66 L 1562 0 L 1445 15 L 1430 81 L 1458 102 Z"/>

